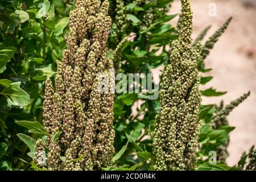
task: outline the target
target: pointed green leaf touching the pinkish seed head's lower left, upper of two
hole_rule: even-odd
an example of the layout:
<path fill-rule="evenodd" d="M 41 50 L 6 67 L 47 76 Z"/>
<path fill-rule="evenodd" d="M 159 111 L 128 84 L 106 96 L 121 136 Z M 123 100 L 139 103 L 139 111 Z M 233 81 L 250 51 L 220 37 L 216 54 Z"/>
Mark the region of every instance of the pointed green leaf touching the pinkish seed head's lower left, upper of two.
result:
<path fill-rule="evenodd" d="M 16 121 L 17 125 L 26 127 L 28 133 L 36 133 L 51 136 L 38 121 Z"/>

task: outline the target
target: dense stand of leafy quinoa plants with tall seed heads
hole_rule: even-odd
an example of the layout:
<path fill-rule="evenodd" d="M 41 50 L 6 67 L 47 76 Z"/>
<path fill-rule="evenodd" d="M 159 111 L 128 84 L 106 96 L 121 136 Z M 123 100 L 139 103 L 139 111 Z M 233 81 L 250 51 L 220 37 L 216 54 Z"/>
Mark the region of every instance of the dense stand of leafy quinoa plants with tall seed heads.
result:
<path fill-rule="evenodd" d="M 250 92 L 201 104 L 226 94 L 199 88 L 232 18 L 192 41 L 189 0 L 176 26 L 171 2 L 0 1 L 0 170 L 255 170 L 254 147 L 236 166 L 225 161 L 227 116 Z M 134 76 L 155 69 L 160 84 L 141 92 Z"/>

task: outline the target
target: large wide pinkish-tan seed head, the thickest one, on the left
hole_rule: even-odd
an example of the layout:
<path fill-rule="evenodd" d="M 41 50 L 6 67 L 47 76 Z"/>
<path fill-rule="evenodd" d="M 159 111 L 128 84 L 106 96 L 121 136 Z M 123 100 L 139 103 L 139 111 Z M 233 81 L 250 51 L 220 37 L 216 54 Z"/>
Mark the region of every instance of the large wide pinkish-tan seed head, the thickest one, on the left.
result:
<path fill-rule="evenodd" d="M 114 153 L 113 61 L 105 47 L 111 24 L 108 7 L 108 1 L 77 0 L 69 14 L 68 48 L 63 61 L 57 61 L 55 89 L 46 80 L 44 126 L 52 137 L 46 141 L 43 167 L 49 170 L 99 169 L 109 165 Z M 101 73 L 110 85 L 104 92 L 99 90 Z M 63 133 L 53 143 L 57 131 Z"/>

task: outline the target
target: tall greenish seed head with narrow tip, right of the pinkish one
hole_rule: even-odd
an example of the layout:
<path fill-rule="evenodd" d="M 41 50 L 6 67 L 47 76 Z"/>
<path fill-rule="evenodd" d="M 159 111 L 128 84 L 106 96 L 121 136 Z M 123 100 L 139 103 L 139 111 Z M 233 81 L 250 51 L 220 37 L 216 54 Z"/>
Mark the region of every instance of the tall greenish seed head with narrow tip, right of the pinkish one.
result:
<path fill-rule="evenodd" d="M 181 0 L 181 4 L 181 35 L 171 44 L 170 64 L 164 71 L 160 90 L 161 112 L 154 131 L 153 152 L 158 170 L 193 169 L 201 126 L 201 77 L 197 70 L 201 44 L 190 46 L 191 6 L 188 0 Z"/>

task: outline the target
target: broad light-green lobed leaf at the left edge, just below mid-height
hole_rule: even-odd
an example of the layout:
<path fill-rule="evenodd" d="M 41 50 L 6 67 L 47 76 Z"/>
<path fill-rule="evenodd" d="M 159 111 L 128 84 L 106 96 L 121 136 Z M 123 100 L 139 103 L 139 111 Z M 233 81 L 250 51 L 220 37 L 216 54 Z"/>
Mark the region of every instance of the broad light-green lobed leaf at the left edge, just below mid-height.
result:
<path fill-rule="evenodd" d="M 0 92 L 7 98 L 9 105 L 26 106 L 30 104 L 30 96 L 20 88 L 20 82 L 14 82 Z"/>

